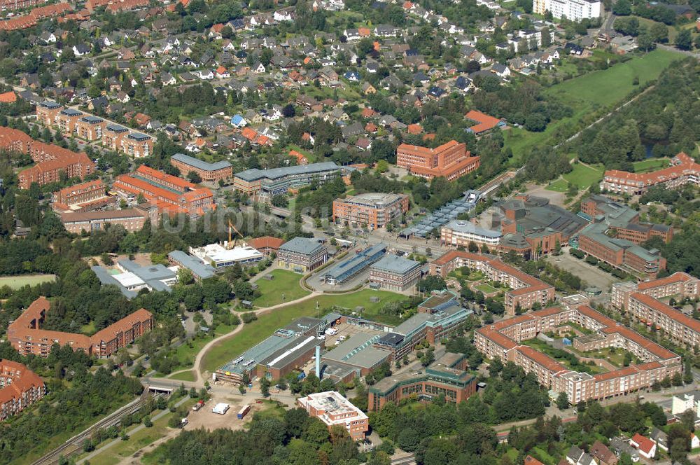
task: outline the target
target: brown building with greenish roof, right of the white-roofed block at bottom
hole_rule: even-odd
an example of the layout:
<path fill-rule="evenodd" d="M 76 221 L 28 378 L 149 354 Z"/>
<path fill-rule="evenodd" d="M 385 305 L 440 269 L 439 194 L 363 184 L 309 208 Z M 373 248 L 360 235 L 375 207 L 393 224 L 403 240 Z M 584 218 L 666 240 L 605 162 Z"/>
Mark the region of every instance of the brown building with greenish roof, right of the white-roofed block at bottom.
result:
<path fill-rule="evenodd" d="M 468 372 L 466 361 L 464 354 L 447 352 L 423 373 L 385 377 L 369 387 L 367 408 L 376 412 L 387 402 L 398 403 L 411 396 L 423 401 L 432 401 L 441 395 L 448 402 L 465 401 L 477 390 L 477 378 Z"/>

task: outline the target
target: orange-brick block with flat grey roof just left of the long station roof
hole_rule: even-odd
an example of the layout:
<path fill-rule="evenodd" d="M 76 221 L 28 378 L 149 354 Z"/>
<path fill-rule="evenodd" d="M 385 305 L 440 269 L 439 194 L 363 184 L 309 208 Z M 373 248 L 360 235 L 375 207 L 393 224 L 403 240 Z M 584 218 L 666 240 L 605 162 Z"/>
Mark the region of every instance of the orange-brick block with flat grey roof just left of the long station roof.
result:
<path fill-rule="evenodd" d="M 408 195 L 365 193 L 333 201 L 333 221 L 382 228 L 408 211 Z"/>

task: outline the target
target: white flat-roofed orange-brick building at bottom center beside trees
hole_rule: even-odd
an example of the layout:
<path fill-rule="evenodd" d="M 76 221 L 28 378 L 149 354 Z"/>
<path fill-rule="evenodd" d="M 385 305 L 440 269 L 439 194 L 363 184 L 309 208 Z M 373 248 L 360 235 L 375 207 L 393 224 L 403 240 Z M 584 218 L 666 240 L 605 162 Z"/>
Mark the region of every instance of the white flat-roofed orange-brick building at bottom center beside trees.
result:
<path fill-rule="evenodd" d="M 353 440 L 363 440 L 370 429 L 370 419 L 365 412 L 344 398 L 339 392 L 325 391 L 297 398 L 297 405 L 320 419 L 328 429 L 342 426 Z"/>

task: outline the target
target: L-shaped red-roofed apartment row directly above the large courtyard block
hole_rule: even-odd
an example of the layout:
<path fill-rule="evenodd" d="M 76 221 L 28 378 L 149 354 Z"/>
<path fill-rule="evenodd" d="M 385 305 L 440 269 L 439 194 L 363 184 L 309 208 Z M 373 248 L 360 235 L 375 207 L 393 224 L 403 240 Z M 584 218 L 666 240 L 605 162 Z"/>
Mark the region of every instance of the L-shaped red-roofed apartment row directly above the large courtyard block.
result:
<path fill-rule="evenodd" d="M 526 310 L 535 303 L 542 306 L 554 300 L 554 286 L 540 281 L 498 258 L 466 251 L 449 251 L 430 263 L 430 274 L 447 277 L 449 272 L 463 266 L 484 273 L 488 279 L 510 287 L 505 292 L 505 310 L 514 314 L 517 307 Z"/>

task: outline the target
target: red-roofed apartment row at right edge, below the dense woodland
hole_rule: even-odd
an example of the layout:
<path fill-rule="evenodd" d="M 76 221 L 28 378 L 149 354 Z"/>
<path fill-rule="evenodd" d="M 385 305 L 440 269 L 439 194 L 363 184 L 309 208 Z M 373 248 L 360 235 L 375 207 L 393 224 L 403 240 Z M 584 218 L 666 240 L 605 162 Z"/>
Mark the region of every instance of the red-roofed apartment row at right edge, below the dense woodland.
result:
<path fill-rule="evenodd" d="M 603 174 L 601 190 L 617 194 L 640 195 L 652 187 L 661 185 L 675 189 L 687 183 L 700 184 L 700 165 L 683 152 L 675 155 L 671 166 L 651 173 L 629 173 L 608 169 Z"/>

